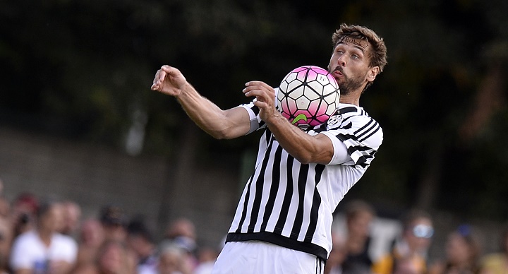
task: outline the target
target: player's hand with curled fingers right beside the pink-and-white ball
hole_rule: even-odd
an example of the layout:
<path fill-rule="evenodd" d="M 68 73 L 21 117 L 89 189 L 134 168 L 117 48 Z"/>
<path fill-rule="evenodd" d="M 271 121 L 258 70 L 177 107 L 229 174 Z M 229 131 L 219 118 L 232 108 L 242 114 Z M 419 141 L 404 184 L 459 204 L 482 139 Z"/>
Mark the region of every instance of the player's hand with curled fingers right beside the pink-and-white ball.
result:
<path fill-rule="evenodd" d="M 250 81 L 246 83 L 243 94 L 256 98 L 254 105 L 259 107 L 260 117 L 263 121 L 280 114 L 275 108 L 275 90 L 267 83 Z"/>

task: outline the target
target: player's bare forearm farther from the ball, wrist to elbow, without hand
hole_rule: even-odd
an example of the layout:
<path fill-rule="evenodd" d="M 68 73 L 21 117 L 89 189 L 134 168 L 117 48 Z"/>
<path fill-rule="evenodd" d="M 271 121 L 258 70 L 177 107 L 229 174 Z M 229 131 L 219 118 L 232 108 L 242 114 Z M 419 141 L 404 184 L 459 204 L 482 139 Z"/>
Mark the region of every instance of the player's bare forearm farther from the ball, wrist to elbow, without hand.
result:
<path fill-rule="evenodd" d="M 234 138 L 247 133 L 238 129 L 238 121 L 231 117 L 231 110 L 223 110 L 202 97 L 191 84 L 187 84 L 177 97 L 180 105 L 196 125 L 218 139 Z"/>

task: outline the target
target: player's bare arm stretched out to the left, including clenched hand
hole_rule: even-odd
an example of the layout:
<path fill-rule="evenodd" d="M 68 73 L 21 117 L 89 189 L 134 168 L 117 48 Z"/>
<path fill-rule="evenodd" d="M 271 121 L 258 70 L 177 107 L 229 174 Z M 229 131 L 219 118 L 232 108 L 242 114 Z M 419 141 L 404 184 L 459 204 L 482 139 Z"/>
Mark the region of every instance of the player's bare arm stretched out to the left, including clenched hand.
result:
<path fill-rule="evenodd" d="M 155 73 L 151 89 L 176 97 L 195 124 L 214 138 L 236 138 L 245 135 L 250 129 L 246 109 L 243 107 L 226 110 L 219 108 L 207 98 L 202 97 L 177 68 L 162 66 Z"/>

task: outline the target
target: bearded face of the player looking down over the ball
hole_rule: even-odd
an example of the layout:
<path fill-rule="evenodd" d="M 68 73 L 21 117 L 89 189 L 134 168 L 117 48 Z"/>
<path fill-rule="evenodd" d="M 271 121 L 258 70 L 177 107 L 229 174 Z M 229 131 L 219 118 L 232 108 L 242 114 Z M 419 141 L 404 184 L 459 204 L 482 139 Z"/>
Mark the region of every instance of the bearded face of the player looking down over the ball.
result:
<path fill-rule="evenodd" d="M 375 74 L 369 68 L 370 44 L 366 40 L 346 37 L 339 42 L 330 58 L 328 70 L 339 83 L 341 95 L 362 91 L 373 81 Z"/>

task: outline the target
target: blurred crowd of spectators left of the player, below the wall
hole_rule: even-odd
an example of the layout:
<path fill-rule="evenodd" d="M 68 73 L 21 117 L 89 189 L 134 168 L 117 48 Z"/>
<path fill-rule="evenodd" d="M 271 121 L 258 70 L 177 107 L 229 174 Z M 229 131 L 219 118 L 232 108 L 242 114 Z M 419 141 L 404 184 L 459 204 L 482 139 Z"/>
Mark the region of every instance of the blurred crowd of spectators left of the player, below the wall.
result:
<path fill-rule="evenodd" d="M 0 274 L 210 273 L 219 246 L 198 246 L 191 220 L 173 220 L 162 234 L 119 205 L 83 218 L 74 201 L 0 196 Z"/>

